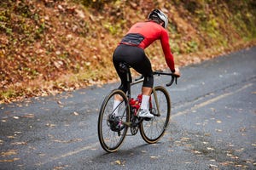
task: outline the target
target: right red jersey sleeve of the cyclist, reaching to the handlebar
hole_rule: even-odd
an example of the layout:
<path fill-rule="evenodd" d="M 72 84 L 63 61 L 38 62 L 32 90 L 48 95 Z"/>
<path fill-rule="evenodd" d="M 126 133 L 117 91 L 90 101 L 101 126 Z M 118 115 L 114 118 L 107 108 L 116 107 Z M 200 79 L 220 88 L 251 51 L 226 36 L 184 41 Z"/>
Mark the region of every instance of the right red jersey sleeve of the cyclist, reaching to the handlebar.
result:
<path fill-rule="evenodd" d="M 163 52 L 165 54 L 166 64 L 168 65 L 170 70 L 172 72 L 174 72 L 175 71 L 174 59 L 173 59 L 173 55 L 172 55 L 172 52 L 171 52 L 170 43 L 169 43 L 169 36 L 168 36 L 167 31 L 162 31 L 161 36 L 160 36 L 160 42 L 161 42 L 161 46 L 163 48 Z"/>

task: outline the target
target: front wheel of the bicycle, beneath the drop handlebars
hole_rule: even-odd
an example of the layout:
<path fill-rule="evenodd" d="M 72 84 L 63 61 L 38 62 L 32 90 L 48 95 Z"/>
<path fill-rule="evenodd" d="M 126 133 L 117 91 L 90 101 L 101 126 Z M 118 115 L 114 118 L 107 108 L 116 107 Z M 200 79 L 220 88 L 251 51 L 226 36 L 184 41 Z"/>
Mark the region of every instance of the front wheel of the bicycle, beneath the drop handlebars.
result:
<path fill-rule="evenodd" d="M 148 121 L 144 120 L 140 124 L 140 133 L 148 144 L 158 142 L 168 126 L 171 115 L 171 99 L 166 88 L 161 86 L 155 87 L 151 94 L 151 103 L 152 108 L 150 110 L 154 114 L 154 117 Z M 159 106 L 159 110 L 157 109 L 157 105 Z"/>

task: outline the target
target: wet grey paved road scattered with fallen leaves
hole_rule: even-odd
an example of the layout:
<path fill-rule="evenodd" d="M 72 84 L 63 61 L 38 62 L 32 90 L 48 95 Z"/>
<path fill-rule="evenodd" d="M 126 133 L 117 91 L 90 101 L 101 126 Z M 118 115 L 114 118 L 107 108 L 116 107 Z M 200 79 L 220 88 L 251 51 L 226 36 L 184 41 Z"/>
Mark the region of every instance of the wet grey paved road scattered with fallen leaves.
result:
<path fill-rule="evenodd" d="M 146 144 L 138 133 L 113 154 L 102 150 L 96 125 L 116 83 L 0 105 L 0 169 L 256 169 L 255 65 L 249 48 L 182 68 L 167 88 L 164 138 Z"/>

